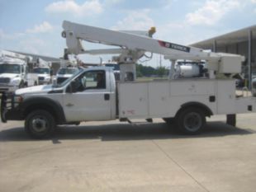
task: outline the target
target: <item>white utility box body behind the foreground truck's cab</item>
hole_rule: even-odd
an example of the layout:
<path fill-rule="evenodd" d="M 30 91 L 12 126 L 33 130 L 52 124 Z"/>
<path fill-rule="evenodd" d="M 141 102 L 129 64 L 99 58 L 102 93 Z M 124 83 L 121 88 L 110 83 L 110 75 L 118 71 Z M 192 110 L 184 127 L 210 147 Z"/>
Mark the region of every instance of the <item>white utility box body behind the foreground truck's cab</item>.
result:
<path fill-rule="evenodd" d="M 126 82 L 118 91 L 120 118 L 174 117 L 181 105 L 190 102 L 206 105 L 213 115 L 252 112 L 249 105 L 256 111 L 255 97 L 236 97 L 235 80 Z"/>

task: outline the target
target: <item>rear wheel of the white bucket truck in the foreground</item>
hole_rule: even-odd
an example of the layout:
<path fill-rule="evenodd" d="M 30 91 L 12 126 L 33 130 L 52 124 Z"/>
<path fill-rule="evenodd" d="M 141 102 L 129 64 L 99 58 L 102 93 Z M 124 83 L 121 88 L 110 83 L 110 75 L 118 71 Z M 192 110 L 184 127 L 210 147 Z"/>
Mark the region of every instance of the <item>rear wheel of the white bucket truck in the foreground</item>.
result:
<path fill-rule="evenodd" d="M 200 108 L 189 107 L 178 113 L 177 123 L 178 129 L 182 133 L 200 133 L 206 124 L 206 115 Z"/>

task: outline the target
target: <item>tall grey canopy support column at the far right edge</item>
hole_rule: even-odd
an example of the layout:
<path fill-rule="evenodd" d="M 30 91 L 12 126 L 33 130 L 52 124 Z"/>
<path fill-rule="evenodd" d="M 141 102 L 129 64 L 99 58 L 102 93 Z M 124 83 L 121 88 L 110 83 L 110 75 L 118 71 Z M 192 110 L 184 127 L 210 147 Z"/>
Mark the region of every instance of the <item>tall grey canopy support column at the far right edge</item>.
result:
<path fill-rule="evenodd" d="M 247 58 L 247 66 L 248 66 L 248 78 L 249 78 L 249 90 L 252 87 L 252 40 L 253 40 L 253 32 L 252 30 L 248 30 L 248 58 Z"/>

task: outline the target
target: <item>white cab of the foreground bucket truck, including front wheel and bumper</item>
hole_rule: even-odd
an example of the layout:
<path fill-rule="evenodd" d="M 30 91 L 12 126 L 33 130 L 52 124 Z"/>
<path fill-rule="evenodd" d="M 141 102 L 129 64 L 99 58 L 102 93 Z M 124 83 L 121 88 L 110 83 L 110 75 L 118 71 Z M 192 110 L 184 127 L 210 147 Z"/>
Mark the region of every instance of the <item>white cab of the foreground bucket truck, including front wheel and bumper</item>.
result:
<path fill-rule="evenodd" d="M 116 119 L 116 82 L 111 68 L 78 71 L 59 85 L 18 89 L 2 95 L 2 122 L 26 120 L 25 129 L 40 138 L 55 124 Z"/>

